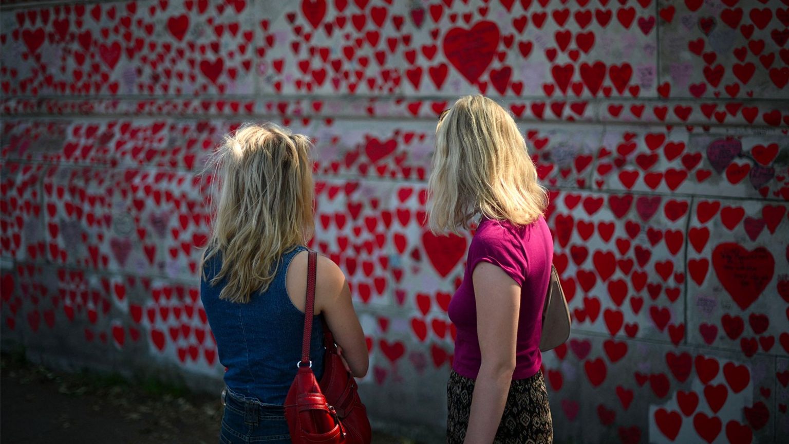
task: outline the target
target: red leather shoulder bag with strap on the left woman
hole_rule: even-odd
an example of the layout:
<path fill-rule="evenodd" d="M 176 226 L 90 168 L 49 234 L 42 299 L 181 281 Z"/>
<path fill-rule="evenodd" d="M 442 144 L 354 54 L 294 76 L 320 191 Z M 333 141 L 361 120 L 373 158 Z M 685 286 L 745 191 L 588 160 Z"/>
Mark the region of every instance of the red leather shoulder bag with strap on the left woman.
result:
<path fill-rule="evenodd" d="M 326 354 L 320 383 L 312 373 L 309 340 L 315 308 L 317 256 L 316 252 L 309 252 L 301 361 L 297 364 L 296 378 L 285 398 L 285 418 L 290 429 L 290 440 L 294 444 L 369 444 L 372 431 L 367 409 L 359 399 L 356 381 L 342 365 L 334 337 L 323 319 Z"/>

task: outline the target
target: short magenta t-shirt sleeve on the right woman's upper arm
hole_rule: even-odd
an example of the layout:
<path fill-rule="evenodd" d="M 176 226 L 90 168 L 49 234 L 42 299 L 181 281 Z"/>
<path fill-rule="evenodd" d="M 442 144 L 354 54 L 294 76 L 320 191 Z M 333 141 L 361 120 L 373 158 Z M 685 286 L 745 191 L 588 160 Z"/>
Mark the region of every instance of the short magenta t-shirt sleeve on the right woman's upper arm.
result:
<path fill-rule="evenodd" d="M 521 287 L 526 280 L 527 263 L 523 248 L 514 242 L 505 228 L 490 227 L 477 231 L 469 246 L 469 273 L 473 273 L 480 262 L 503 269 Z"/>

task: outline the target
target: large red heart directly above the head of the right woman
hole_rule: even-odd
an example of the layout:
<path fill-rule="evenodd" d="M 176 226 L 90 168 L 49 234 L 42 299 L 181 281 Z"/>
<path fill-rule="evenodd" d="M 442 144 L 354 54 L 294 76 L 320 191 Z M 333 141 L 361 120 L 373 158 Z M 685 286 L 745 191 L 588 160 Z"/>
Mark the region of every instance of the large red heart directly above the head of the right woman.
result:
<path fill-rule="evenodd" d="M 499 27 L 480 21 L 471 29 L 451 28 L 443 40 L 444 55 L 471 83 L 477 83 L 499 46 Z"/>

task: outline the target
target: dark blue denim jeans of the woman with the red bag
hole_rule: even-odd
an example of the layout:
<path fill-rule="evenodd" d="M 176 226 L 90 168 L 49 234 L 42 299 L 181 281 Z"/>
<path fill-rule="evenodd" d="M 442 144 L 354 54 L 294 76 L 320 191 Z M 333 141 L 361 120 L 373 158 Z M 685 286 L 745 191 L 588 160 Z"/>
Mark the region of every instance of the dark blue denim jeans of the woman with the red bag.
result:
<path fill-rule="evenodd" d="M 227 388 L 222 391 L 222 401 L 225 412 L 219 430 L 220 444 L 290 444 L 282 405 L 264 404 Z"/>

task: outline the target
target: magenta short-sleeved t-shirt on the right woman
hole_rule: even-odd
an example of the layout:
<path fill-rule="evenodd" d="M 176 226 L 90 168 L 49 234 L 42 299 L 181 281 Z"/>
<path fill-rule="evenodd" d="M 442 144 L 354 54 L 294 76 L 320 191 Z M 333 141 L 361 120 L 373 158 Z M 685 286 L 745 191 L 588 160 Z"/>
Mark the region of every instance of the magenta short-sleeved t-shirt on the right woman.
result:
<path fill-rule="evenodd" d="M 482 361 L 477 339 L 477 304 L 472 274 L 480 262 L 499 266 L 521 286 L 521 310 L 513 379 L 529 378 L 542 364 L 542 308 L 551 277 L 553 240 L 543 216 L 533 224 L 514 227 L 509 221 L 483 218 L 469 246 L 466 273 L 449 304 L 449 318 L 458 330 L 452 370 L 477 378 Z"/>

